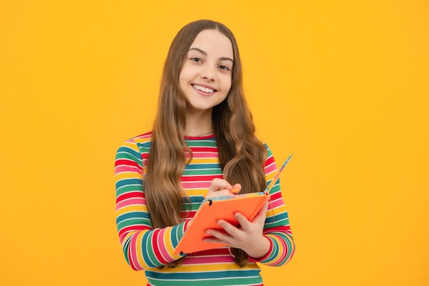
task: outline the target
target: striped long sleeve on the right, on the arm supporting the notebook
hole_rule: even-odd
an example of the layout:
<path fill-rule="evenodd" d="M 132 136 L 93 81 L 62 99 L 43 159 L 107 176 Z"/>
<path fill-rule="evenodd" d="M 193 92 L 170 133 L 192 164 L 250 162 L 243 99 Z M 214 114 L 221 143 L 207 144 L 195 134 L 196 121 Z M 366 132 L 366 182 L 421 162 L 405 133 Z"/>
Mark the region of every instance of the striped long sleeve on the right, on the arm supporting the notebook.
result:
<path fill-rule="evenodd" d="M 277 172 L 277 167 L 271 150 L 268 147 L 267 150 L 268 158 L 265 164 L 265 174 L 267 184 L 269 184 Z M 258 262 L 270 266 L 280 266 L 288 263 L 295 252 L 295 242 L 289 225 L 289 215 L 280 190 L 280 179 L 275 182 L 270 191 L 270 203 L 263 234 L 269 239 L 271 248 L 267 255 Z"/>

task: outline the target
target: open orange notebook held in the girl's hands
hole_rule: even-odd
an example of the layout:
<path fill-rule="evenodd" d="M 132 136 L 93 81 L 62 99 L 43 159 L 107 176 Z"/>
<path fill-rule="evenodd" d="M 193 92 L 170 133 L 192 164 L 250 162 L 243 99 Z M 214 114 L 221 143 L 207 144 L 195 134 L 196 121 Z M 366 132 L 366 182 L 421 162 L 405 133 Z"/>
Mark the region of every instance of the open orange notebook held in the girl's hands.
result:
<path fill-rule="evenodd" d="M 216 223 L 218 219 L 225 219 L 227 222 L 230 222 L 230 224 L 239 226 L 237 219 L 234 217 L 234 213 L 236 212 L 242 213 L 249 221 L 252 221 L 260 208 L 269 200 L 269 191 L 292 156 L 293 154 L 286 159 L 278 173 L 273 180 L 271 180 L 271 184 L 269 184 L 267 189 L 263 192 L 207 198 L 203 200 L 191 224 L 189 224 L 186 229 L 184 236 L 177 244 L 174 254 L 185 254 L 226 246 L 223 243 L 204 242 L 203 239 L 205 237 L 210 237 L 210 235 L 206 235 L 205 231 L 209 228 L 223 230 L 223 228 Z"/>

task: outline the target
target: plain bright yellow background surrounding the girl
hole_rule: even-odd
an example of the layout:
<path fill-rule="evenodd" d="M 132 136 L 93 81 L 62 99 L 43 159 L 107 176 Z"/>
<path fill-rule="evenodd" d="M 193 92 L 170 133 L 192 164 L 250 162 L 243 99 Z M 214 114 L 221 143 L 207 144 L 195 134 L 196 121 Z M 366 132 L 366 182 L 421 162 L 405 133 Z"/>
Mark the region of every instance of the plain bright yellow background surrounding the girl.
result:
<path fill-rule="evenodd" d="M 0 4 L 0 285 L 145 285 L 113 161 L 151 128 L 173 36 L 236 35 L 297 252 L 265 285 L 428 285 L 427 1 Z"/>

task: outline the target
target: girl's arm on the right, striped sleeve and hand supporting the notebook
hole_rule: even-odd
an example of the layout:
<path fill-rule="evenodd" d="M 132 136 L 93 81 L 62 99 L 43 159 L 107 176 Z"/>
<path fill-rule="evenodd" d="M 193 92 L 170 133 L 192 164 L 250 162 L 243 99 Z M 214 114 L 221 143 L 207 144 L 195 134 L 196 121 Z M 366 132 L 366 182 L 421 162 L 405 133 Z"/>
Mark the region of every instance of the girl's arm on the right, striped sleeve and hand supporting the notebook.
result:
<path fill-rule="evenodd" d="M 268 148 L 267 150 L 265 174 L 268 183 L 270 183 L 277 173 L 277 166 L 270 150 Z M 228 184 L 228 182 L 226 183 Z M 215 180 L 213 184 L 215 184 Z M 221 191 L 229 192 L 228 187 L 230 185 L 224 185 Z M 241 248 L 254 261 L 270 266 L 280 266 L 289 262 L 295 251 L 295 243 L 289 226 L 288 213 L 282 199 L 279 180 L 275 182 L 270 191 L 270 201 L 262 207 L 252 222 L 249 222 L 241 213 L 235 213 L 234 216 L 240 224 L 238 228 L 224 219 L 219 219 L 217 224 L 223 227 L 225 232 L 208 229 L 206 234 L 212 237 L 208 237 L 204 241 L 225 243 L 234 248 Z"/>

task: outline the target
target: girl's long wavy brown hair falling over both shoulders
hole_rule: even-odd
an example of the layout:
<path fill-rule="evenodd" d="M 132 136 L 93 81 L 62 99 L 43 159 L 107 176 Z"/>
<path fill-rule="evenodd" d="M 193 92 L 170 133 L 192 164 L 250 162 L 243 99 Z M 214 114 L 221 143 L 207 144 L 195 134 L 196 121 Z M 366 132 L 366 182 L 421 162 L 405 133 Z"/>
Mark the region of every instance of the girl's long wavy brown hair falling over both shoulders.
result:
<path fill-rule="evenodd" d="M 264 173 L 267 150 L 255 135 L 252 114 L 243 91 L 243 76 L 236 39 L 225 25 L 200 20 L 189 23 L 177 33 L 164 64 L 158 100 L 158 115 L 152 131 L 152 142 L 145 172 L 145 198 L 154 228 L 183 222 L 188 198 L 180 178 L 188 163 L 185 153 L 192 152 L 184 140 L 187 102 L 179 86 L 179 74 L 189 47 L 204 29 L 217 29 L 227 36 L 234 52 L 232 85 L 226 99 L 213 107 L 212 128 L 219 150 L 219 163 L 228 182 L 239 182 L 241 193 L 263 191 L 267 187 Z M 189 159 L 188 159 L 189 160 Z M 234 260 L 247 263 L 247 254 L 234 249 Z M 170 263 L 180 265 L 182 259 Z"/>

